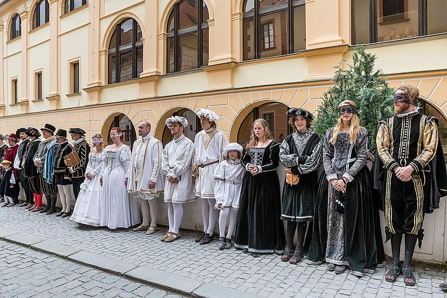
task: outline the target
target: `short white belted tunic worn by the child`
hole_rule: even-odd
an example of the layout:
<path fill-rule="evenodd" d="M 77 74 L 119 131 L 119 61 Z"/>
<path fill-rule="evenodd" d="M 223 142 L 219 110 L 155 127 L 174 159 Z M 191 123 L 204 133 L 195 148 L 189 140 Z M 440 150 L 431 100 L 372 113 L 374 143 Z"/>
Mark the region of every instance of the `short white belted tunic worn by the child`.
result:
<path fill-rule="evenodd" d="M 244 173 L 245 168 L 241 165 L 240 159 L 228 159 L 219 163 L 214 170 L 214 179 L 216 180 L 214 187 L 216 206 L 214 208 L 239 210 Z M 221 208 L 217 206 L 219 204 L 222 204 Z"/>

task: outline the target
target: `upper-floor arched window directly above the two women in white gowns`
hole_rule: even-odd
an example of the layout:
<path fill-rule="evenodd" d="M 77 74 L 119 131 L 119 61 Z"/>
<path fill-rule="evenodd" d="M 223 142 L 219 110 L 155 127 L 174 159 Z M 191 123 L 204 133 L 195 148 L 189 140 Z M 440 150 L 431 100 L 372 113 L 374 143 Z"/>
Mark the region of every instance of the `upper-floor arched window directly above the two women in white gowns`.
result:
<path fill-rule="evenodd" d="M 140 77 L 143 72 L 143 35 L 133 18 L 117 24 L 108 50 L 108 82 L 117 83 Z"/>

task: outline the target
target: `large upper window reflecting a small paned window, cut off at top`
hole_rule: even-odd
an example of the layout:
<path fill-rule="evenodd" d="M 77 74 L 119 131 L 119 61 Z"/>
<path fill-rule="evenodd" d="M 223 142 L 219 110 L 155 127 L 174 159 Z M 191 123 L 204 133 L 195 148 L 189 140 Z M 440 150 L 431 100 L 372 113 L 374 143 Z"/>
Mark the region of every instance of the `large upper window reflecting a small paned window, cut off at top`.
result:
<path fill-rule="evenodd" d="M 243 59 L 252 60 L 306 49 L 304 0 L 246 0 Z"/>

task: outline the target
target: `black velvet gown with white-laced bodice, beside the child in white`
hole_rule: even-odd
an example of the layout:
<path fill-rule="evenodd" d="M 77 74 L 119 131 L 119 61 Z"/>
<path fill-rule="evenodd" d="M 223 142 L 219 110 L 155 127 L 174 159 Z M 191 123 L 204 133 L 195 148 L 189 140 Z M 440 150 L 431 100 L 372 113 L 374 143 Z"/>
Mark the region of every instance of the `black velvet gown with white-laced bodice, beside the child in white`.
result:
<path fill-rule="evenodd" d="M 250 155 L 244 149 L 242 156 L 241 164 L 246 169 L 252 163 L 260 171 L 244 175 L 234 246 L 253 253 L 282 254 L 285 234 L 276 173 L 279 143 L 272 141 L 266 148 L 251 147 Z"/>

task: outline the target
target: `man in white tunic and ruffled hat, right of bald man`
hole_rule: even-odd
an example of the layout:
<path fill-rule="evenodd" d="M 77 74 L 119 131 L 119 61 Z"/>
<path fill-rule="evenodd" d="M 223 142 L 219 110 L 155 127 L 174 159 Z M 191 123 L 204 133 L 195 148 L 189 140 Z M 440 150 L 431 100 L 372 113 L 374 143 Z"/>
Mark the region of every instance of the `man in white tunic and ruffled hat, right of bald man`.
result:
<path fill-rule="evenodd" d="M 168 203 L 169 230 L 160 240 L 172 242 L 179 238 L 183 217 L 182 204 L 195 200 L 192 192 L 191 159 L 194 144 L 183 135 L 188 121 L 173 116 L 166 120 L 174 140 L 163 149 L 162 170 L 165 173 L 165 203 Z"/>

